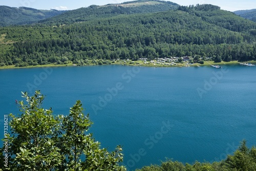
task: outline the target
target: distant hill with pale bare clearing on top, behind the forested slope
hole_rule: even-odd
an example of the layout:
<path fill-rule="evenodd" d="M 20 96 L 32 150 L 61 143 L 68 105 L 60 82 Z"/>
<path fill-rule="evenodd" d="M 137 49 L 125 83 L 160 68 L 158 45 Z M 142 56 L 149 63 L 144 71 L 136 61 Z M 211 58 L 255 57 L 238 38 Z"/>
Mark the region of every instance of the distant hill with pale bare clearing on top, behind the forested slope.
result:
<path fill-rule="evenodd" d="M 91 5 L 68 11 L 56 17 L 41 20 L 39 23 L 46 25 L 63 25 L 85 22 L 92 19 L 107 18 L 120 14 L 151 13 L 177 9 L 178 4 L 157 0 L 138 0 L 122 4 L 108 4 L 104 6 Z"/>

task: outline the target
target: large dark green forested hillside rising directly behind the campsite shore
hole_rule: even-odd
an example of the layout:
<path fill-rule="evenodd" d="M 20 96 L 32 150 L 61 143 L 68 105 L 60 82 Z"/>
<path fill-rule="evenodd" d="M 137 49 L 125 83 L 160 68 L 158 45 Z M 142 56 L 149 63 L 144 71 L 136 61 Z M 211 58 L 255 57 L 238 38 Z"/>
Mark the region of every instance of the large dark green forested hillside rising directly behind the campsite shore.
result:
<path fill-rule="evenodd" d="M 0 35 L 2 66 L 185 55 L 247 61 L 256 56 L 256 23 L 212 5 L 67 25 L 5 27 Z"/>

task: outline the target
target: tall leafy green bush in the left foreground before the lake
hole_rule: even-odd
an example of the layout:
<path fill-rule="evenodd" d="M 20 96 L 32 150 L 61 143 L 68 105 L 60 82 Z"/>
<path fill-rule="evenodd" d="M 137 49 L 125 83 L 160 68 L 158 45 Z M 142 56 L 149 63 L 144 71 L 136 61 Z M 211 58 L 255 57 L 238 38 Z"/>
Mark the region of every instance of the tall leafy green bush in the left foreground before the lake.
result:
<path fill-rule="evenodd" d="M 68 116 L 54 116 L 52 109 L 41 108 L 44 96 L 39 91 L 20 101 L 21 115 L 10 114 L 9 159 L 6 170 L 125 170 L 122 148 L 108 152 L 86 134 L 92 122 L 83 114 L 80 101 Z M 3 164 L 3 157 L 1 164 Z"/>

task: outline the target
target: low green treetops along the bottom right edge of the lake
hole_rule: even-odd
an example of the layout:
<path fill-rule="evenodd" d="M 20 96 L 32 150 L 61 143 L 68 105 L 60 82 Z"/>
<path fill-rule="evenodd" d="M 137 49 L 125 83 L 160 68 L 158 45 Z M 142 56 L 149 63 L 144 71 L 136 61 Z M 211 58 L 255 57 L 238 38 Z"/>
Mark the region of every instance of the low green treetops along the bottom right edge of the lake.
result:
<path fill-rule="evenodd" d="M 168 160 L 161 165 L 144 166 L 136 171 L 254 171 L 256 170 L 256 148 L 246 147 L 246 141 L 243 140 L 241 145 L 233 155 L 228 155 L 226 160 L 214 163 L 200 163 L 185 165 L 178 161 Z"/>

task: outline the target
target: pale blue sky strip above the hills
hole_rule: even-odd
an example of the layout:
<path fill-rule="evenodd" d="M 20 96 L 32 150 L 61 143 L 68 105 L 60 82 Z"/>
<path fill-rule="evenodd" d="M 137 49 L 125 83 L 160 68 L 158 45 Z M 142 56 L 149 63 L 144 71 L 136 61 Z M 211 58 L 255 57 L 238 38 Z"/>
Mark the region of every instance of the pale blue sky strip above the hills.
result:
<path fill-rule="evenodd" d="M 80 7 L 88 7 L 90 5 L 119 4 L 127 1 L 131 0 L 0 0 L 0 5 L 11 7 L 30 7 L 36 9 L 73 10 Z M 212 4 L 218 5 L 221 9 L 228 11 L 256 9 L 255 0 L 174 0 L 171 2 L 184 6 Z"/>

